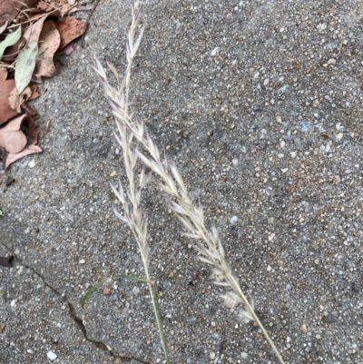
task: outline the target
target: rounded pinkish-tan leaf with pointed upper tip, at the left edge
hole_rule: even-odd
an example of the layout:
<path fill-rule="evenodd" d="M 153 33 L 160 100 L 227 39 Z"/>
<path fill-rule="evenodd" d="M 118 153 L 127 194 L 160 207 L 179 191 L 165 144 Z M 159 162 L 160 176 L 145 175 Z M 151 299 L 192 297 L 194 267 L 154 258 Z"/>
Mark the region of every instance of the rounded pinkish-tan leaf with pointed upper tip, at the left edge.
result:
<path fill-rule="evenodd" d="M 0 147 L 5 148 L 6 152 L 21 152 L 26 145 L 26 136 L 20 128 L 25 114 L 18 116 L 0 129 Z"/>

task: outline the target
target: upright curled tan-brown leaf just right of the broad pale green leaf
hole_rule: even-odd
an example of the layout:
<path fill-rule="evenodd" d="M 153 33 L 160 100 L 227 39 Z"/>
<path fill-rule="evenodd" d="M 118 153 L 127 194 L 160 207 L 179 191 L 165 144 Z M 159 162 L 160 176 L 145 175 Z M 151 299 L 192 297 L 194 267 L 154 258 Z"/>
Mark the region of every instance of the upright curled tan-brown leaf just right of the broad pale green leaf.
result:
<path fill-rule="evenodd" d="M 53 57 L 61 44 L 61 36 L 53 21 L 45 22 L 39 36 L 39 50 L 36 56 L 36 77 L 52 77 L 57 74 Z"/>

